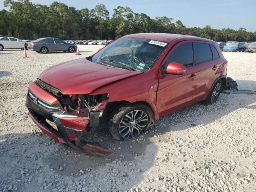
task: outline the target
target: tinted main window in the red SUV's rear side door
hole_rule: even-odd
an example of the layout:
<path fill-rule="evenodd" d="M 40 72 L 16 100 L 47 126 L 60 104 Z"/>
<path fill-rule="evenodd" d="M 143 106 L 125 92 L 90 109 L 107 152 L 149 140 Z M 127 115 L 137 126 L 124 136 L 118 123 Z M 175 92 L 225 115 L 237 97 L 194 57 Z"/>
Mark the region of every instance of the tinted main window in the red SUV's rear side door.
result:
<path fill-rule="evenodd" d="M 212 50 L 207 43 L 196 43 L 198 63 L 212 60 Z"/>

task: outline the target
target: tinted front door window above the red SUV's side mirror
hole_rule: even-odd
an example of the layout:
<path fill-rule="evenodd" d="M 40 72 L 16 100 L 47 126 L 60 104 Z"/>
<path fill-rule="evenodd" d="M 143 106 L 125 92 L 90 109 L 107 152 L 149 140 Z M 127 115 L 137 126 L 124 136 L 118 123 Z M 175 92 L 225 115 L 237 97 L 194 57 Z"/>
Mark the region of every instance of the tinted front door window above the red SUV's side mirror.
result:
<path fill-rule="evenodd" d="M 176 47 L 166 60 L 166 64 L 176 62 L 185 66 L 193 64 L 193 45 L 184 43 Z"/>

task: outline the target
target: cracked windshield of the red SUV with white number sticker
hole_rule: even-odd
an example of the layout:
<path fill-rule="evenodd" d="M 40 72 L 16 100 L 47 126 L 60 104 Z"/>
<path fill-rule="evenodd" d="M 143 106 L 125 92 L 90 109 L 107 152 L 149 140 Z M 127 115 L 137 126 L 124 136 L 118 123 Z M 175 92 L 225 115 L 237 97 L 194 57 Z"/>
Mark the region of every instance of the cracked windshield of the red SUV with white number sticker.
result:
<path fill-rule="evenodd" d="M 122 37 L 95 54 L 91 60 L 98 64 L 144 72 L 154 66 L 166 47 L 166 42 Z"/>

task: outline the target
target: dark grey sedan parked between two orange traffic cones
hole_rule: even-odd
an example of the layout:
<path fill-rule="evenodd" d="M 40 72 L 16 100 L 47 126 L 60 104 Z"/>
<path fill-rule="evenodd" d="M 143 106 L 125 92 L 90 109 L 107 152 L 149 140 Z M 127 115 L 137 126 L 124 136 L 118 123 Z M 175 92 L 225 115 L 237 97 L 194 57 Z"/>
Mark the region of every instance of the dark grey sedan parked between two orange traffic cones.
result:
<path fill-rule="evenodd" d="M 28 43 L 28 50 L 47 53 L 54 51 L 75 52 L 76 44 L 66 43 L 58 38 L 40 38 Z"/>

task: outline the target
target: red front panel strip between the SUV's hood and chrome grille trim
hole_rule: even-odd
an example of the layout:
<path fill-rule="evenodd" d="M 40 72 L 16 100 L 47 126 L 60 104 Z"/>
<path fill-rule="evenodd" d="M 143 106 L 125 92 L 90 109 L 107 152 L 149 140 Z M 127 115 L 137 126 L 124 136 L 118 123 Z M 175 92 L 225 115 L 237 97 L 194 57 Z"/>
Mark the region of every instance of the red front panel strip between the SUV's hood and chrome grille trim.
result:
<path fill-rule="evenodd" d="M 45 90 L 40 88 L 34 82 L 31 82 L 28 88 L 38 98 L 40 98 L 41 100 L 44 100 L 48 104 L 57 104 L 57 103 L 59 103 L 59 101 L 54 96 L 50 95 L 48 92 L 46 92 Z"/>

